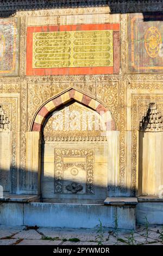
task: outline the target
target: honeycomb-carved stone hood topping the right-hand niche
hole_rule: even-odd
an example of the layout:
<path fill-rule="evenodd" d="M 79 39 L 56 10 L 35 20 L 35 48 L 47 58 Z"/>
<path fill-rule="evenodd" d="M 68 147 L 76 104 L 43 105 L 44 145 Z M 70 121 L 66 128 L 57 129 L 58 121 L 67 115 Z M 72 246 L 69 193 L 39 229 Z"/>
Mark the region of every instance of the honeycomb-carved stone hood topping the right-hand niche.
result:
<path fill-rule="evenodd" d="M 163 131 L 163 117 L 158 111 L 155 102 L 149 103 L 147 113 L 140 122 L 140 131 Z"/>

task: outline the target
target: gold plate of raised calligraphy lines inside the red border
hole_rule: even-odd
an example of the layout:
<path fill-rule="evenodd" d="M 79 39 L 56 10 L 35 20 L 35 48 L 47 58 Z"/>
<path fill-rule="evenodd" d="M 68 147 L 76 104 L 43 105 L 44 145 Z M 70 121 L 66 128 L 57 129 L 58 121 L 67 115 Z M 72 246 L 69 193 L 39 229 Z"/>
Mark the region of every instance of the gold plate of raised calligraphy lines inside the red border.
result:
<path fill-rule="evenodd" d="M 113 66 L 112 31 L 33 34 L 33 68 Z"/>

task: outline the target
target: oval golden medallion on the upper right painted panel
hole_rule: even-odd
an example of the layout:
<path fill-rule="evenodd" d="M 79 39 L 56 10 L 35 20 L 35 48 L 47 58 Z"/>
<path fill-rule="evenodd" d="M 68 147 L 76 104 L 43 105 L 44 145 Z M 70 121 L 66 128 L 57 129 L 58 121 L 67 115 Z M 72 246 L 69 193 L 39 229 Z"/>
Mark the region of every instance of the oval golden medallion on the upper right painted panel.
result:
<path fill-rule="evenodd" d="M 150 27 L 145 34 L 145 48 L 151 58 L 158 56 L 160 44 L 162 43 L 161 34 L 156 27 Z"/>

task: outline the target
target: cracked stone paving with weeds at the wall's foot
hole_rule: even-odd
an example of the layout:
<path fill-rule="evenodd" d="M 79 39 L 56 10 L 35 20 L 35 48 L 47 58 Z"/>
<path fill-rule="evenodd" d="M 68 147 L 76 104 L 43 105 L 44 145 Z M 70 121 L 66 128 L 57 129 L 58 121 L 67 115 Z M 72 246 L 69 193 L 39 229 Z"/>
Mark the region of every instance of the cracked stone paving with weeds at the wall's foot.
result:
<path fill-rule="evenodd" d="M 101 237 L 99 235 L 101 234 Z M 136 230 L 11 227 L 0 225 L 0 245 L 163 245 L 163 227 Z"/>

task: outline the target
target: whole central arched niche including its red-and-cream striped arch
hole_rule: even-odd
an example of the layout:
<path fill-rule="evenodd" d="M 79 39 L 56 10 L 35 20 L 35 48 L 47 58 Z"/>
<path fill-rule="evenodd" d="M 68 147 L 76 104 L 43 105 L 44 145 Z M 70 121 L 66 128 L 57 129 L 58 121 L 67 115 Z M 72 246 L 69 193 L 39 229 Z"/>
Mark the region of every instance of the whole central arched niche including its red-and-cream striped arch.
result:
<path fill-rule="evenodd" d="M 59 129 L 55 129 L 56 118 L 61 115 L 65 120 L 65 111 L 71 115 L 71 125 L 74 110 L 79 113 L 77 127 L 71 130 L 68 126 L 67 130 L 58 122 Z M 90 115 L 86 115 L 83 129 L 78 123 L 80 114 L 85 112 L 93 114 L 94 119 L 91 125 Z M 35 114 L 31 131 L 27 132 L 27 170 L 35 172 L 36 193 L 42 194 L 44 202 L 97 202 L 106 198 L 109 147 L 106 132 L 95 127 L 95 119 L 105 126 L 103 131 L 115 130 L 110 111 L 74 89 L 49 100 Z"/>

